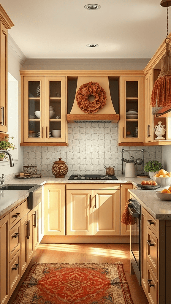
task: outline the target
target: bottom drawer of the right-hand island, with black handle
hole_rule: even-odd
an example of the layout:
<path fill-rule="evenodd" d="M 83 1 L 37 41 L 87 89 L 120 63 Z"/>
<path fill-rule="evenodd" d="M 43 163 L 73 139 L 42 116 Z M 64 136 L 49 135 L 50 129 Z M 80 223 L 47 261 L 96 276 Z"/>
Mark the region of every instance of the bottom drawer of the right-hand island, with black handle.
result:
<path fill-rule="evenodd" d="M 150 304 L 157 304 L 158 281 L 147 263 L 147 299 Z"/>

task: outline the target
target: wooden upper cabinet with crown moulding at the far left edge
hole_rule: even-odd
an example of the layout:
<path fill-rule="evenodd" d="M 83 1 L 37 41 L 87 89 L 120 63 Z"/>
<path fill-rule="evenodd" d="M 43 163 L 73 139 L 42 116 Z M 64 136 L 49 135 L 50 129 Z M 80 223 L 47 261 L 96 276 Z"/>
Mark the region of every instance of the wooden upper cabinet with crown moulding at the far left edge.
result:
<path fill-rule="evenodd" d="M 0 5 L 0 132 L 8 131 L 8 29 L 14 24 Z"/>

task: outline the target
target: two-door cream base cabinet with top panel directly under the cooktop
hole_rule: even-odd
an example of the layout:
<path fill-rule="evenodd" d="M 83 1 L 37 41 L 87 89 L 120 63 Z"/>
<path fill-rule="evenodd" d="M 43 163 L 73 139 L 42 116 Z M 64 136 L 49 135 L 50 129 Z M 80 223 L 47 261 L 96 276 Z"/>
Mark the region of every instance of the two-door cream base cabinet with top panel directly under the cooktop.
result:
<path fill-rule="evenodd" d="M 67 235 L 119 235 L 120 185 L 67 184 Z"/>

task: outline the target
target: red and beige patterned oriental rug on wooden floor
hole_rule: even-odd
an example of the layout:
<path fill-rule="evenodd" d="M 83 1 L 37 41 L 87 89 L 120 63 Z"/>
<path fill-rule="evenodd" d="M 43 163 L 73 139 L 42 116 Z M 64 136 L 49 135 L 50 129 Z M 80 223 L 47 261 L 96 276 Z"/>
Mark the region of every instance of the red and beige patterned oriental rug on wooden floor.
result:
<path fill-rule="evenodd" d="M 34 263 L 13 304 L 133 304 L 121 262 Z"/>

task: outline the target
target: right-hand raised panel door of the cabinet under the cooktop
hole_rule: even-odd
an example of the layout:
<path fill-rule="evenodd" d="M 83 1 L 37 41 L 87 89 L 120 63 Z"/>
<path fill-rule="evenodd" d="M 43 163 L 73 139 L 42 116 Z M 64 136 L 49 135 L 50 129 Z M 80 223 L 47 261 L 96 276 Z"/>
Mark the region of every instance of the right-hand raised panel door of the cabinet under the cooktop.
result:
<path fill-rule="evenodd" d="M 120 234 L 120 190 L 93 190 L 93 235 Z"/>

